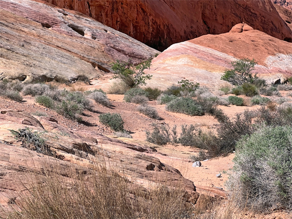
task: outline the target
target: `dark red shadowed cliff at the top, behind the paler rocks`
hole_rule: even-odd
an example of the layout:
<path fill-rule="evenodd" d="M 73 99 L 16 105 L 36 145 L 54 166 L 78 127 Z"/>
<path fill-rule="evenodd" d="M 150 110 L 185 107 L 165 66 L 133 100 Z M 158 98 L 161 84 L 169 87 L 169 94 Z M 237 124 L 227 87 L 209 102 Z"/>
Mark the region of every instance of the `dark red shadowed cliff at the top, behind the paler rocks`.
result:
<path fill-rule="evenodd" d="M 282 40 L 292 35 L 271 0 L 46 1 L 91 16 L 161 51 L 173 43 L 226 33 L 242 22 Z"/>

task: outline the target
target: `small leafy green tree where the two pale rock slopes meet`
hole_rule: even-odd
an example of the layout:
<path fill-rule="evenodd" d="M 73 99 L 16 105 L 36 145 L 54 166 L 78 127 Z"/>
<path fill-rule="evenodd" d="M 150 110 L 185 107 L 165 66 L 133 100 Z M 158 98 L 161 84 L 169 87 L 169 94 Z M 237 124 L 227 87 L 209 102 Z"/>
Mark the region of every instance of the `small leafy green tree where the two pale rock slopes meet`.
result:
<path fill-rule="evenodd" d="M 133 66 L 128 62 L 117 61 L 112 64 L 112 71 L 114 73 L 112 79 L 121 79 L 130 88 L 139 85 L 146 85 L 146 80 L 150 80 L 152 75 L 144 73 L 146 69 L 150 69 L 151 59 L 148 59 L 137 66 Z"/>

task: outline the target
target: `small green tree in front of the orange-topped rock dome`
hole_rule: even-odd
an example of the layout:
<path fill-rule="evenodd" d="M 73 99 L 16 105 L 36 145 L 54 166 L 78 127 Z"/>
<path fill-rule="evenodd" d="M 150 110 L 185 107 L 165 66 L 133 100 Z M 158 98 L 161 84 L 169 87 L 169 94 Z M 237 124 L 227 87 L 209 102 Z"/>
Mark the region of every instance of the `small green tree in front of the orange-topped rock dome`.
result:
<path fill-rule="evenodd" d="M 221 80 L 228 81 L 233 85 L 253 83 L 258 78 L 257 73 L 252 73 L 256 64 L 255 59 L 250 60 L 248 58 L 233 61 L 231 62 L 233 69 L 226 70 Z"/>

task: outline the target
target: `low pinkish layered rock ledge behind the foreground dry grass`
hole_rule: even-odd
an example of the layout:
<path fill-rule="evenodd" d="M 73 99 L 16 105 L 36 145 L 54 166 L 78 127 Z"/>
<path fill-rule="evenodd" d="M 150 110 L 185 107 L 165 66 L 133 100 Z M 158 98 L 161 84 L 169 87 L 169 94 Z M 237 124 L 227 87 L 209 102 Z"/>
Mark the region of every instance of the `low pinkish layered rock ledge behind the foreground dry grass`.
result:
<path fill-rule="evenodd" d="M 46 131 L 42 138 L 58 159 L 21 147 L 10 130 L 26 127 L 34 131 Z M 122 140 L 94 132 L 74 131 L 59 125 L 50 117 L 33 117 L 25 112 L 0 110 L 0 204 L 7 205 L 9 197 L 18 201 L 22 183 L 27 183 L 30 172 L 41 172 L 48 160 L 51 166 L 59 166 L 64 175 L 72 171 L 72 166 L 87 174 L 94 162 L 102 160 L 109 170 L 110 166 L 114 166 L 116 174 L 127 177 L 129 182 L 137 186 L 180 186 L 188 191 L 190 201 L 196 203 L 199 193 L 195 192 L 194 183 L 183 178 L 179 170 L 151 156 L 157 153 L 154 145 L 137 141 L 131 144 Z"/>

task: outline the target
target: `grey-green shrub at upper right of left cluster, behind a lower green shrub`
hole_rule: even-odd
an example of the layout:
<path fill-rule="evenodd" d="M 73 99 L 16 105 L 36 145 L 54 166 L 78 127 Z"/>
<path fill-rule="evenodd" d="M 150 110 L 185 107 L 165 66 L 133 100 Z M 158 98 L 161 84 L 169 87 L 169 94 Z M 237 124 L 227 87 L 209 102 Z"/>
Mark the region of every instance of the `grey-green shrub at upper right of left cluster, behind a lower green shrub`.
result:
<path fill-rule="evenodd" d="M 80 91 L 62 91 L 62 96 L 65 97 L 67 102 L 81 105 L 83 109 L 92 110 L 91 101 Z"/>

